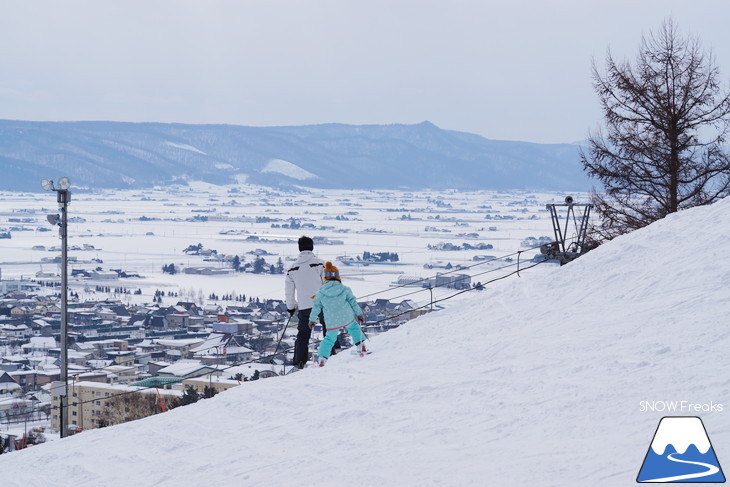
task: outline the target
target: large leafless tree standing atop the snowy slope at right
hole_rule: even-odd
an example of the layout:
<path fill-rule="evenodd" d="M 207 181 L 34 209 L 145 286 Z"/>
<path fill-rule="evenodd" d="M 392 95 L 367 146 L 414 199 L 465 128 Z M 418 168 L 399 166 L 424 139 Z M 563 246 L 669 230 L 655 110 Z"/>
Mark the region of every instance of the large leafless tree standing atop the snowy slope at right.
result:
<path fill-rule="evenodd" d="M 605 74 L 594 62 L 593 84 L 606 131 L 590 134 L 581 162 L 605 187 L 593 195 L 604 237 L 730 193 L 730 94 L 699 39 L 666 20 L 633 65 L 610 50 Z"/>

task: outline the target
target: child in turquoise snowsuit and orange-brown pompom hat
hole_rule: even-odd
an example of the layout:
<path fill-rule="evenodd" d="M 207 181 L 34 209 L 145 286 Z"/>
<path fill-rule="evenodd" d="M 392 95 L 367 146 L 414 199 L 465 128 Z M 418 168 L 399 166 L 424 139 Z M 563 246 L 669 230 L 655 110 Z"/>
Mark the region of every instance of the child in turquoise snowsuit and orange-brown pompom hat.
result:
<path fill-rule="evenodd" d="M 328 333 L 319 344 L 317 352 L 320 358 L 320 366 L 324 365 L 324 362 L 329 358 L 337 334 L 342 328 L 347 328 L 355 345 L 360 346 L 363 351 L 365 349 L 361 344 L 365 339 L 365 335 L 360 329 L 360 325 L 364 321 L 362 310 L 360 305 L 357 304 L 352 290 L 340 281 L 340 271 L 332 265 L 332 262 L 325 263 L 324 280 L 324 284 L 314 296 L 312 312 L 309 315 L 319 316 L 320 311 L 324 311 L 324 321 Z M 314 327 L 315 322 L 310 321 L 309 325 Z"/>

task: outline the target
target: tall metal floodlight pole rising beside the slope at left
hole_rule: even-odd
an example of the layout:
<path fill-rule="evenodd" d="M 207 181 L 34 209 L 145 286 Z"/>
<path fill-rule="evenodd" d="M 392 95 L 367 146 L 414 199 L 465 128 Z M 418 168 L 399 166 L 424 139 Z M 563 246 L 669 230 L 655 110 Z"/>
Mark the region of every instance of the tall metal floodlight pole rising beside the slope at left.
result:
<path fill-rule="evenodd" d="M 61 215 L 48 215 L 51 225 L 59 226 L 61 235 L 61 377 L 63 383 L 61 399 L 61 438 L 68 435 L 68 205 L 71 202 L 71 181 L 68 178 L 58 180 L 58 187 L 53 180 L 44 179 L 41 187 L 46 191 L 55 191 Z"/>

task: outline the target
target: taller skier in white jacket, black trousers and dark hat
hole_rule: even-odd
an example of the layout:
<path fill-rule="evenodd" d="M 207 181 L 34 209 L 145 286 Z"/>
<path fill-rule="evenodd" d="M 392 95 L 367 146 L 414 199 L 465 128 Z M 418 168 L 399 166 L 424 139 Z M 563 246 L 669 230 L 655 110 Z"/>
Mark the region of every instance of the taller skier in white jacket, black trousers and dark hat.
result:
<path fill-rule="evenodd" d="M 284 288 L 286 294 L 286 308 L 290 316 L 299 309 L 299 325 L 297 326 L 297 340 L 294 343 L 294 364 L 300 369 L 309 360 L 309 338 L 312 329 L 309 327 L 312 302 L 322 282 L 324 282 L 324 262 L 314 255 L 314 242 L 309 237 L 299 239 L 299 258 L 286 271 Z M 317 317 L 313 316 L 312 320 Z M 327 334 L 324 325 L 324 316 L 320 313 L 319 322 L 322 330 Z M 337 333 L 337 332 L 335 332 Z M 335 340 L 335 347 L 338 347 Z"/>

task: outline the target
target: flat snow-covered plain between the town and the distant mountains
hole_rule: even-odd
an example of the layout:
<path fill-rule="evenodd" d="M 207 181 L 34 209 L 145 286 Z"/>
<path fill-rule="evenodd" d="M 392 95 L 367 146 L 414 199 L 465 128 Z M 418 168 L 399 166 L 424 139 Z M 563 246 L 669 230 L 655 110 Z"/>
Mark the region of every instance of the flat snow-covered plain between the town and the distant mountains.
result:
<path fill-rule="evenodd" d="M 32 278 L 38 273 L 59 274 L 57 264 L 42 262 L 60 255 L 59 250 L 33 250 L 60 247 L 56 229 L 46 215 L 56 213 L 53 193 L 2 193 L 0 229 L 20 227 L 11 239 L 0 240 L 2 278 Z M 576 200 L 586 195 L 574 194 Z M 162 266 L 230 267 L 230 263 L 204 261 L 204 257 L 187 255 L 183 250 L 202 244 L 218 254 L 238 254 L 252 262 L 257 249 L 266 250 L 268 264 L 298 254 L 296 240 L 301 235 L 324 237 L 338 245 L 317 244 L 315 252 L 325 260 L 340 256 L 350 258 L 363 252 L 393 252 L 398 265 L 342 266 L 343 274 L 359 296 L 377 293 L 377 298 L 393 298 L 402 289 L 389 292 L 400 276 L 425 278 L 443 272 L 438 265 L 474 265 L 475 256 L 502 256 L 525 250 L 526 237 L 552 237 L 553 231 L 545 204 L 562 203 L 565 194 L 515 192 L 405 192 L 405 191 L 275 191 L 241 185 L 220 187 L 193 183 L 190 187 L 172 187 L 145 191 L 76 192 L 69 206 L 69 246 L 90 250 L 71 250 L 77 262 L 71 269 L 122 269 L 137 272 L 141 278 L 92 281 L 71 279 L 71 287 L 83 299 L 99 299 L 96 286 L 125 287 L 141 290 L 141 295 L 125 294 L 124 302 L 150 302 L 155 291 L 177 296 L 165 298 L 175 304 L 181 298 L 206 301 L 211 293 L 264 298 L 283 297 L 281 275 L 231 273 L 224 276 L 162 273 Z M 294 219 L 301 228 L 283 228 Z M 20 220 L 20 221 L 19 221 Z M 28 220 L 28 221 L 26 221 Z M 314 228 L 312 228 L 314 227 Z M 574 229 L 572 229 L 574 231 Z M 258 240 L 255 240 L 258 238 Z M 440 243 L 455 245 L 493 245 L 489 250 L 442 251 L 428 246 Z M 526 252 L 523 259 L 536 251 Z M 94 261 L 93 259 L 101 260 Z M 434 269 L 424 269 L 435 264 Z M 495 264 L 477 266 L 484 271 Z M 470 272 L 472 274 L 476 272 Z M 47 278 L 46 278 L 47 279 Z M 55 277 L 58 280 L 58 277 Z M 479 280 L 479 278 L 476 278 Z M 448 291 L 436 290 L 435 296 Z M 408 296 L 427 302 L 423 291 Z M 217 301 L 218 304 L 226 304 Z"/>

